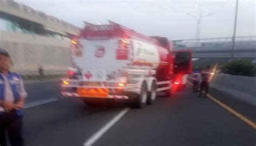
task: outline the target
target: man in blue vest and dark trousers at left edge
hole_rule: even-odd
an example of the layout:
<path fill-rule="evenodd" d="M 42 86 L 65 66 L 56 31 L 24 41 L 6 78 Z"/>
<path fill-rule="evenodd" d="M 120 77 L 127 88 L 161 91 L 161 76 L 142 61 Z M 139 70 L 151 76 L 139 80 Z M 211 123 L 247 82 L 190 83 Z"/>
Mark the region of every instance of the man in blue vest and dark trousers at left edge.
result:
<path fill-rule="evenodd" d="M 12 146 L 23 146 L 22 108 L 27 93 L 20 75 L 10 72 L 8 52 L 0 48 L 0 145 L 5 146 L 8 132 Z"/>

